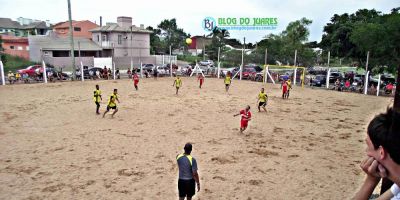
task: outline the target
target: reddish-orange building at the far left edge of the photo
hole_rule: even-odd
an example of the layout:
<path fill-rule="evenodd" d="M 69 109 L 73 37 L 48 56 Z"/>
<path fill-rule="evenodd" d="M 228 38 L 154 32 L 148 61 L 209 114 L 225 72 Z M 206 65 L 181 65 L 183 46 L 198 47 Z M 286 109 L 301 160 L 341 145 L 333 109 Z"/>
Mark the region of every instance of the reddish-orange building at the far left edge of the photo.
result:
<path fill-rule="evenodd" d="M 29 60 L 28 38 L 11 35 L 0 35 L 5 54 L 18 56 Z"/>

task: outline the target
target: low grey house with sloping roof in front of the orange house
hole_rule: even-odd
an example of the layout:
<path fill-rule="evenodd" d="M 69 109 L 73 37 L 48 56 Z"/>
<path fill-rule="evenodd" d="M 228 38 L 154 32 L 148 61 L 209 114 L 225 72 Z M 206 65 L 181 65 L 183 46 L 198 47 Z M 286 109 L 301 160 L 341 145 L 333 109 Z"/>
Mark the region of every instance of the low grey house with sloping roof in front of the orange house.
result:
<path fill-rule="evenodd" d="M 53 66 L 71 66 L 70 40 L 55 34 L 48 36 L 29 36 L 30 60 L 40 62 L 42 59 Z M 74 38 L 75 63 L 93 66 L 93 58 L 100 57 L 102 48 L 87 38 Z M 79 57 L 80 55 L 80 57 Z M 111 55 L 106 55 L 111 56 Z"/>

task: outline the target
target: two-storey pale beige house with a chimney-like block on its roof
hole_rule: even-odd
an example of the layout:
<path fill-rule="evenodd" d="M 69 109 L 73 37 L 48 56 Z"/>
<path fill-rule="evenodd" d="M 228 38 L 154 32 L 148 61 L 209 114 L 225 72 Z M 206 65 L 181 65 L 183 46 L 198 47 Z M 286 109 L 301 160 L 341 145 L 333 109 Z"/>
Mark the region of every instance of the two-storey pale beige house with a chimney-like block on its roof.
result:
<path fill-rule="evenodd" d="M 132 25 L 131 17 L 118 17 L 117 23 L 90 30 L 92 40 L 104 50 L 112 50 L 113 57 L 149 57 L 150 34 L 144 26 Z"/>

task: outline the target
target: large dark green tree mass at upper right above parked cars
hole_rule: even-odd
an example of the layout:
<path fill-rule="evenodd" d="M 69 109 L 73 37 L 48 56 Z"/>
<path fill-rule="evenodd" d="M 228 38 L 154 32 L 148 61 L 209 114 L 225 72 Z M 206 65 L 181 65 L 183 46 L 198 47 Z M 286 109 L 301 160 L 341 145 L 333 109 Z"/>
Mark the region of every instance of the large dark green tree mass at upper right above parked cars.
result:
<path fill-rule="evenodd" d="M 357 61 L 362 68 L 370 51 L 369 69 L 394 72 L 400 59 L 400 8 L 390 14 L 360 9 L 353 14 L 335 14 L 324 27 L 319 46 L 332 57 Z M 326 54 L 326 53 L 325 53 Z"/>

